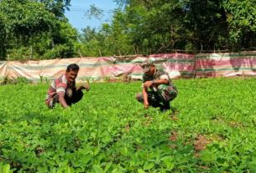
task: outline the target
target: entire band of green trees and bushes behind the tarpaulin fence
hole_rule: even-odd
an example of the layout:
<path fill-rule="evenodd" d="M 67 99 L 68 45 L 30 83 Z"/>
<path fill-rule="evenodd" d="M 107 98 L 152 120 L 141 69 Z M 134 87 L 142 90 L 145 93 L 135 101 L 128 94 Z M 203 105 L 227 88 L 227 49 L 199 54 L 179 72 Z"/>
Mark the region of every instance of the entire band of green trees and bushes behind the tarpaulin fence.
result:
<path fill-rule="evenodd" d="M 71 0 L 1 0 L 0 59 L 255 50 L 256 0 L 113 1 L 111 23 L 79 33 L 64 14 Z"/>

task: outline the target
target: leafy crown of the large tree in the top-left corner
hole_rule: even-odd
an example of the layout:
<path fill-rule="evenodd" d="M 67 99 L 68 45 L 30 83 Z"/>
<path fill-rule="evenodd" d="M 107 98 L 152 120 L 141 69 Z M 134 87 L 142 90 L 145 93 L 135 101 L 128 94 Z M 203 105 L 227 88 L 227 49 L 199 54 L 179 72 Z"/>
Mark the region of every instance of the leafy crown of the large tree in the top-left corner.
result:
<path fill-rule="evenodd" d="M 45 9 L 43 3 L 31 1 L 3 0 L 0 3 L 0 13 L 5 32 L 21 36 L 24 39 L 29 35 L 48 31 L 54 25 L 54 15 Z"/>

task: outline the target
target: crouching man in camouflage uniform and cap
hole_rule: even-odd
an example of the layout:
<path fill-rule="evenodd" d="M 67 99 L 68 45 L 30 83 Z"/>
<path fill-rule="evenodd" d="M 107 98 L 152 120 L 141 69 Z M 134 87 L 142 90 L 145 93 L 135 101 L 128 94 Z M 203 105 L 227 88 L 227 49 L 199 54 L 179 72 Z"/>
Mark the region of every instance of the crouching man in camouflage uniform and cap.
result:
<path fill-rule="evenodd" d="M 156 68 L 150 59 L 145 60 L 141 67 L 144 71 L 143 89 L 142 93 L 136 95 L 136 99 L 144 103 L 145 109 L 149 106 L 159 107 L 161 111 L 170 109 L 170 101 L 175 99 L 178 91 L 169 75 L 164 69 Z"/>

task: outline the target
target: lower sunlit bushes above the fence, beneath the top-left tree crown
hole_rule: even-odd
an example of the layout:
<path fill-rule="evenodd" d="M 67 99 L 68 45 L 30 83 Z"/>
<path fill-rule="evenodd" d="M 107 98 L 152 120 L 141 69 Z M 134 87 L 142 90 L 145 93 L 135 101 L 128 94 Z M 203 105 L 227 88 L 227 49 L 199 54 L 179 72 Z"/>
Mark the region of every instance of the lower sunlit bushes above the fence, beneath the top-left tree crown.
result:
<path fill-rule="evenodd" d="M 74 56 L 78 33 L 70 23 L 58 22 L 54 33 L 42 33 L 29 39 L 31 46 L 8 50 L 9 60 L 56 59 Z"/>

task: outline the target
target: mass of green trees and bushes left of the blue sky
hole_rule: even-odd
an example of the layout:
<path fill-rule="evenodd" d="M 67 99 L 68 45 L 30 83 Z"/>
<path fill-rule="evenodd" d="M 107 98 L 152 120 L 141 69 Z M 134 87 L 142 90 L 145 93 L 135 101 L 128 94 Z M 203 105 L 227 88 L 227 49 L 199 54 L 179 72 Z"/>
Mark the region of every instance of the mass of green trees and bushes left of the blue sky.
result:
<path fill-rule="evenodd" d="M 1 58 L 28 60 L 72 57 L 78 33 L 63 14 L 69 3 L 1 1 Z"/>

